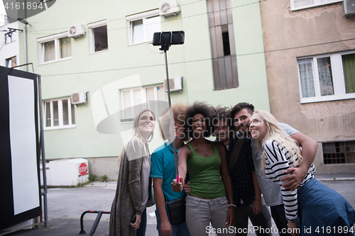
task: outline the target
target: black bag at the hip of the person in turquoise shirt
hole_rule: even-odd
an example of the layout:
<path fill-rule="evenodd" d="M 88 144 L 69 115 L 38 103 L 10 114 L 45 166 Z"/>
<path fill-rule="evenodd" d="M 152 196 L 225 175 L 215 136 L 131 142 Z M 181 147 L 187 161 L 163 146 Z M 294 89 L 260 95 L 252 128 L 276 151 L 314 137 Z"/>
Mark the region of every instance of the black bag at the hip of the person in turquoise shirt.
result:
<path fill-rule="evenodd" d="M 186 201 L 185 197 L 178 198 L 166 203 L 170 213 L 170 223 L 172 225 L 179 225 L 186 222 Z"/>

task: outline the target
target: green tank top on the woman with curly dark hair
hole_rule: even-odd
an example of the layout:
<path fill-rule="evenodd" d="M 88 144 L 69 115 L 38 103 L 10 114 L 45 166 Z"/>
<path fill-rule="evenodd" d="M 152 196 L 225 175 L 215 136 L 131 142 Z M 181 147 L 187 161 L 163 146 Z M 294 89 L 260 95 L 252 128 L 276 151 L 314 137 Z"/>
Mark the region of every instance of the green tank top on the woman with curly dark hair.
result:
<path fill-rule="evenodd" d="M 202 157 L 197 154 L 191 143 L 191 154 L 187 158 L 187 172 L 190 176 L 190 194 L 200 198 L 220 198 L 226 196 L 221 179 L 221 157 L 216 145 L 211 142 L 214 154 L 211 157 Z"/>

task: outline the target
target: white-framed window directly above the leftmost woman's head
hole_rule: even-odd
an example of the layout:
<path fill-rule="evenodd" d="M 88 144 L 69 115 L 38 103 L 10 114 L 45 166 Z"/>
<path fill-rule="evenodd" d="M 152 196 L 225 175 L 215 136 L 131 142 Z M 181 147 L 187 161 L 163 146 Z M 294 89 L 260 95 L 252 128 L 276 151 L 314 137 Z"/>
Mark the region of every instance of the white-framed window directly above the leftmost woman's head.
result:
<path fill-rule="evenodd" d="M 121 91 L 122 119 L 121 122 L 133 121 L 134 116 L 142 109 L 148 108 L 156 116 L 163 111 L 167 105 L 158 101 L 165 101 L 165 91 L 163 84 L 145 86 L 143 88 L 124 89 Z M 158 113 L 157 113 L 158 111 Z"/>

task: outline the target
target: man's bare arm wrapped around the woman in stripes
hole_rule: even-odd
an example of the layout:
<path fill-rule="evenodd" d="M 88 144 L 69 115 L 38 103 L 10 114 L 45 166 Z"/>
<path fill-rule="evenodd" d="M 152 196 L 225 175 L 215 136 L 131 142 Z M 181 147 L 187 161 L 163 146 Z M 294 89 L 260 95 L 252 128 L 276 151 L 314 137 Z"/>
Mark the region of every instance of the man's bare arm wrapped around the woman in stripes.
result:
<path fill-rule="evenodd" d="M 288 181 L 286 184 L 283 184 L 285 189 L 294 190 L 302 183 L 303 179 L 305 179 L 308 169 L 310 169 L 311 164 L 315 160 L 318 143 L 300 132 L 291 135 L 291 137 L 302 147 L 303 159 L 302 163 L 297 168 L 286 169 L 285 173 L 291 174 L 282 180 Z"/>

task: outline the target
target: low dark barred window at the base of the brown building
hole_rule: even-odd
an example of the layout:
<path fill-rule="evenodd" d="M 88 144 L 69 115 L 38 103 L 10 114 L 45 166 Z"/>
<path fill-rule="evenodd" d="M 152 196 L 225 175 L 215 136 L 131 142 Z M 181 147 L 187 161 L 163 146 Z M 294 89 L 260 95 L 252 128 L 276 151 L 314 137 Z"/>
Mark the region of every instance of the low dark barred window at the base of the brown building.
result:
<path fill-rule="evenodd" d="M 355 163 L 355 141 L 323 142 L 324 164 Z"/>

